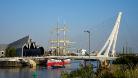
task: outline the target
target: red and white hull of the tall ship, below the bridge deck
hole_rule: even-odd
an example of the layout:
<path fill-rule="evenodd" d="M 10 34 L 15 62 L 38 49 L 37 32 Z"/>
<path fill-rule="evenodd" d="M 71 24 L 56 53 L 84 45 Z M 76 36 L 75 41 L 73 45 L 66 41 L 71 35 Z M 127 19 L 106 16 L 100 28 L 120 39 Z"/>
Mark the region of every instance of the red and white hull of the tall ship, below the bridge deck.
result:
<path fill-rule="evenodd" d="M 71 60 L 70 59 L 64 59 L 64 60 L 59 60 L 59 59 L 48 59 L 47 60 L 47 66 L 51 67 L 54 65 L 65 65 L 65 64 L 70 64 Z"/>

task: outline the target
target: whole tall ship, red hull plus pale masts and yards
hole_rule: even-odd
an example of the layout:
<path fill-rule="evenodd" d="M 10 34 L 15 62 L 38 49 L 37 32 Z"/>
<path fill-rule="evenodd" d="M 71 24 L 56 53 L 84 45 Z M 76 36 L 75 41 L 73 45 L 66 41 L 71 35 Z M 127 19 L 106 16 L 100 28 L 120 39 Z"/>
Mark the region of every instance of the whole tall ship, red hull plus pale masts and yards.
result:
<path fill-rule="evenodd" d="M 55 56 L 66 56 L 70 54 L 70 51 L 68 50 L 71 41 L 67 39 L 66 32 L 68 31 L 66 25 L 62 28 L 59 27 L 57 24 L 56 27 L 56 38 L 51 39 L 50 42 L 50 52 L 51 55 Z M 65 64 L 70 64 L 71 59 L 48 59 L 47 60 L 47 66 L 64 66 Z"/>

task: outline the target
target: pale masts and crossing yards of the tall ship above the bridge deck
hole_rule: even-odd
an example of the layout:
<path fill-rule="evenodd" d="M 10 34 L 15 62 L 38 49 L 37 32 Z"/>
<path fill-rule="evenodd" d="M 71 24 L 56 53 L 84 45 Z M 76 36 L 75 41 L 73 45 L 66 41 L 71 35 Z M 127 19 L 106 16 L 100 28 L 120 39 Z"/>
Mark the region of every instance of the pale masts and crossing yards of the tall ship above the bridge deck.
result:
<path fill-rule="evenodd" d="M 61 32 L 63 33 L 61 35 Z M 67 27 L 66 24 L 64 24 L 64 27 L 60 28 L 59 24 L 57 23 L 56 27 L 56 40 L 50 40 L 51 49 L 55 50 L 56 55 L 66 55 L 67 54 L 67 44 L 72 43 L 69 40 L 66 39 L 66 32 L 67 32 Z M 62 38 L 60 38 L 62 36 Z M 54 51 L 52 50 L 52 51 Z"/>

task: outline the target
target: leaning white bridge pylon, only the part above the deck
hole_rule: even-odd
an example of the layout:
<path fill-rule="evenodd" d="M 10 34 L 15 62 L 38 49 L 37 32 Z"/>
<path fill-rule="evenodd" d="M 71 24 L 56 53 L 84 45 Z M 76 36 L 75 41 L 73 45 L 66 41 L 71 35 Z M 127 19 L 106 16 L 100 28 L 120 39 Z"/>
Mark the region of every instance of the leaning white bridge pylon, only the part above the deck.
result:
<path fill-rule="evenodd" d="M 110 50 L 112 52 L 111 53 L 112 57 L 115 56 L 115 52 L 116 52 L 115 47 L 116 47 L 116 41 L 117 41 L 121 17 L 122 17 L 122 12 L 119 12 L 112 32 L 110 36 L 108 37 L 107 41 L 105 42 L 104 46 L 102 47 L 102 49 L 97 54 L 97 56 L 109 57 Z"/>

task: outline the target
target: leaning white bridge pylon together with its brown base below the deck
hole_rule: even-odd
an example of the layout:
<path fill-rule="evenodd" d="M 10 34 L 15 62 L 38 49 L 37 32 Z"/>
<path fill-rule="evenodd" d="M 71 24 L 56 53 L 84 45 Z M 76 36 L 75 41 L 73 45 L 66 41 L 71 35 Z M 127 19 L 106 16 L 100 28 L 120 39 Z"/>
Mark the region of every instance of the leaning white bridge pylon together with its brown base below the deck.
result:
<path fill-rule="evenodd" d="M 102 57 L 102 59 L 99 59 L 100 67 L 102 68 L 109 68 L 110 62 L 109 60 L 107 60 L 107 58 L 115 57 L 115 52 L 116 52 L 115 47 L 116 47 L 116 41 L 117 41 L 121 17 L 122 17 L 122 12 L 119 12 L 111 34 L 109 35 L 102 49 L 99 51 L 99 53 L 97 53 L 97 58 Z M 111 51 L 111 56 L 109 56 L 110 51 Z"/>

